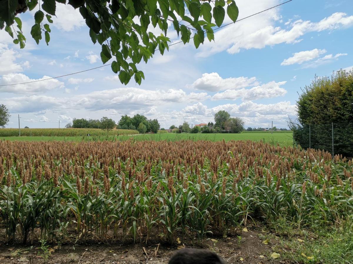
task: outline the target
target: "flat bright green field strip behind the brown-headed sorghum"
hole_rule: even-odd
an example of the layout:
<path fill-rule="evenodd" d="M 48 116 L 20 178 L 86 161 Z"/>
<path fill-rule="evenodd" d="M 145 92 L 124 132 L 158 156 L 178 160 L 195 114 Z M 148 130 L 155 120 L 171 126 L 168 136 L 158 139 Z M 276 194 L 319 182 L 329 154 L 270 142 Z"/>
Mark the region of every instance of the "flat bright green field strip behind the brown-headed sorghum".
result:
<path fill-rule="evenodd" d="M 240 134 L 189 134 L 189 133 L 163 133 L 163 134 L 144 134 L 136 136 L 109 136 L 109 137 L 1 137 L 2 140 L 19 140 L 19 141 L 86 141 L 86 140 L 127 140 L 133 138 L 135 140 L 263 140 L 265 143 L 280 144 L 281 146 L 293 145 L 292 132 L 252 132 L 252 133 L 240 133 Z"/>

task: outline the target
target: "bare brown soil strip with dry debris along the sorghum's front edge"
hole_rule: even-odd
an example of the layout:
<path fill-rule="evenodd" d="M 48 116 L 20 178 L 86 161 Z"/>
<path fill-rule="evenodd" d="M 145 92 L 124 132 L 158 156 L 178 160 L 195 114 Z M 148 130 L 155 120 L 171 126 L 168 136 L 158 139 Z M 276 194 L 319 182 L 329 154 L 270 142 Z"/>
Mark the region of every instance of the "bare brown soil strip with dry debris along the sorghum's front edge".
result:
<path fill-rule="evenodd" d="M 217 252 L 227 263 L 287 263 L 273 259 L 271 243 L 264 244 L 261 239 L 260 227 L 247 227 L 240 236 L 208 237 L 203 248 Z M 241 237 L 241 239 L 240 239 Z M 50 256 L 45 259 L 40 245 L 23 246 L 21 244 L 5 244 L 0 240 L 1 264 L 61 264 L 61 263 L 168 263 L 170 257 L 178 249 L 191 247 L 191 241 L 170 246 L 162 240 L 151 240 L 149 244 L 80 244 L 80 245 L 49 245 Z"/>

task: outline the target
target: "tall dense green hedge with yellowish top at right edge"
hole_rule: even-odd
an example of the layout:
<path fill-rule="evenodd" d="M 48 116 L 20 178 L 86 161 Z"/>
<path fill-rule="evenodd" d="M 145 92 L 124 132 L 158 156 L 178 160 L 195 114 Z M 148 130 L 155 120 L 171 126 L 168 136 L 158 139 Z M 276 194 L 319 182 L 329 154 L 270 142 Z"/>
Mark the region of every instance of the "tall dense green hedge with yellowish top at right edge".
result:
<path fill-rule="evenodd" d="M 315 76 L 302 89 L 297 108 L 299 123 L 292 128 L 298 144 L 329 152 L 333 147 L 334 155 L 353 157 L 353 70 Z"/>

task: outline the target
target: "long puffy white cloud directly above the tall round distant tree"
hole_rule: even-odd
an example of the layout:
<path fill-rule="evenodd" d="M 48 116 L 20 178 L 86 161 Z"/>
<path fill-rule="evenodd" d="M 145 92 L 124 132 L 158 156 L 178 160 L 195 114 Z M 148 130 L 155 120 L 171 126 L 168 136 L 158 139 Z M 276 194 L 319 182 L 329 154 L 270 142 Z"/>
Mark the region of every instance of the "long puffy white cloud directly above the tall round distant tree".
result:
<path fill-rule="evenodd" d="M 284 96 L 287 91 L 281 86 L 286 82 L 268 82 L 259 86 L 252 87 L 251 89 L 240 89 L 240 90 L 225 90 L 222 93 L 216 93 L 212 96 L 211 100 L 236 100 L 241 98 L 242 100 L 257 100 L 262 98 L 275 98 L 278 96 Z"/>

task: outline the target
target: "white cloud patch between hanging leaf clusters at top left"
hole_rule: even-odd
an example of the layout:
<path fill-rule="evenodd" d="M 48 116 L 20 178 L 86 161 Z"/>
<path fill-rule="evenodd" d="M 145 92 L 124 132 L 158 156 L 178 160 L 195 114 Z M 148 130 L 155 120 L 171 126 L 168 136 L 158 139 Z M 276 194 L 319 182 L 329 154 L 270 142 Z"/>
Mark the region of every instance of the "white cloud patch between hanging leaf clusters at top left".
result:
<path fill-rule="evenodd" d="M 53 25 L 62 31 L 73 31 L 85 26 L 85 20 L 82 18 L 78 8 L 75 10 L 71 5 L 56 3 Z"/>

